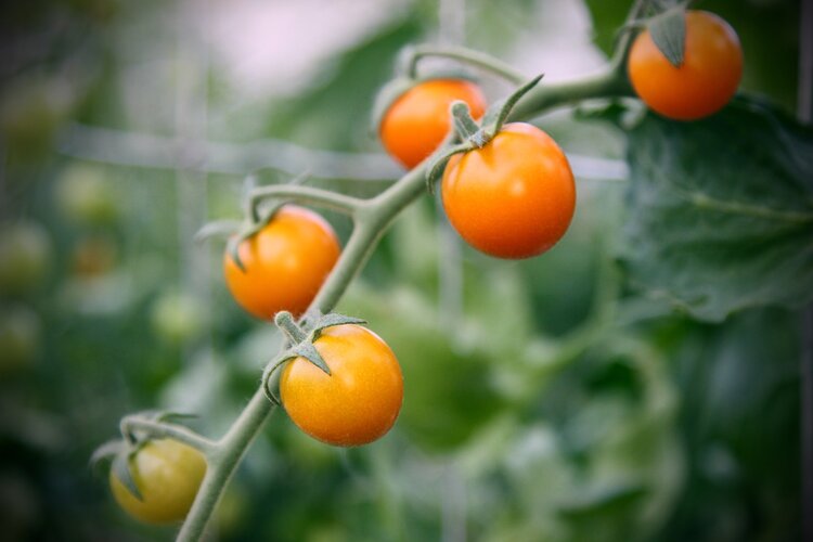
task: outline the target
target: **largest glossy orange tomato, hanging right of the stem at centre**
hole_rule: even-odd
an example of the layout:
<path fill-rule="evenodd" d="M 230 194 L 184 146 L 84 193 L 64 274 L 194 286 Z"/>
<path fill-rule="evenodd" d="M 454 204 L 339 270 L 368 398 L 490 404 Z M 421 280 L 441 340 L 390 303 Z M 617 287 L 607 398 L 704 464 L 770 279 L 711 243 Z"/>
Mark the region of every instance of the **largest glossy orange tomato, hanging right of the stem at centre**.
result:
<path fill-rule="evenodd" d="M 449 221 L 472 246 L 528 258 L 567 231 L 576 183 L 565 153 L 539 128 L 508 124 L 482 149 L 453 156 L 441 181 Z"/>

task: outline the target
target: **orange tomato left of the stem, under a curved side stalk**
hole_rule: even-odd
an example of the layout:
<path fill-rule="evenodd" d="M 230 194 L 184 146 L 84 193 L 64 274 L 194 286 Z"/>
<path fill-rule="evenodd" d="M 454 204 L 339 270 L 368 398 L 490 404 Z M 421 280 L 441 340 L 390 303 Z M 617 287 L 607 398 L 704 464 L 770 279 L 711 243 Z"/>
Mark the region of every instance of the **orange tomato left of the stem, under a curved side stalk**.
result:
<path fill-rule="evenodd" d="M 257 318 L 281 310 L 300 315 L 339 257 L 338 238 L 322 217 L 301 207 L 282 207 L 271 221 L 240 245 L 240 269 L 227 251 L 225 283 L 234 299 Z"/>

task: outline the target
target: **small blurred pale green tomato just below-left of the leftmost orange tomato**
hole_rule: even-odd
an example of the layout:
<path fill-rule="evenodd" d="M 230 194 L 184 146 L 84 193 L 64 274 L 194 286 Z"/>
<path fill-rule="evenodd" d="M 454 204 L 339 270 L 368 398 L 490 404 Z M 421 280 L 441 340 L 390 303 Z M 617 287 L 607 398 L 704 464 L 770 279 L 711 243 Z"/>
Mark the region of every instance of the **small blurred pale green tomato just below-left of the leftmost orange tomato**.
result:
<path fill-rule="evenodd" d="M 164 294 L 153 304 L 153 331 L 170 345 L 183 345 L 206 327 L 203 304 L 189 294 Z"/>

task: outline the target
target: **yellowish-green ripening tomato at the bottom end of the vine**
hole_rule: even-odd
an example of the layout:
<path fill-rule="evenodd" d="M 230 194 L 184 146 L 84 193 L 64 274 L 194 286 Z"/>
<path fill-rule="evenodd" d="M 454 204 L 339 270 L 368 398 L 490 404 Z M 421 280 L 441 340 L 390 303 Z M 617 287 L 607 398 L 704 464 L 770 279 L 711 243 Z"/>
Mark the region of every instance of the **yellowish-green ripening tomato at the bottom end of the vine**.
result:
<path fill-rule="evenodd" d="M 172 439 L 151 440 L 130 460 L 140 501 L 111 469 L 113 496 L 125 512 L 146 524 L 179 521 L 186 516 L 206 473 L 206 459 Z"/>

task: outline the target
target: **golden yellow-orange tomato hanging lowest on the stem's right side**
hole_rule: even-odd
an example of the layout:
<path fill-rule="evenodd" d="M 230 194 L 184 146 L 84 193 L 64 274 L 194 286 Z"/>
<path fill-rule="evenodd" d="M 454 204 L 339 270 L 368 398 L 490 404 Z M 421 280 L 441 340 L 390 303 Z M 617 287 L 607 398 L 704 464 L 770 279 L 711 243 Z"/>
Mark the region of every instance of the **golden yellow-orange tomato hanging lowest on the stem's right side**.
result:
<path fill-rule="evenodd" d="M 392 350 L 375 333 L 352 324 L 324 330 L 313 346 L 331 374 L 304 358 L 285 366 L 280 393 L 291 420 L 328 444 L 360 446 L 384 436 L 403 399 Z"/>

